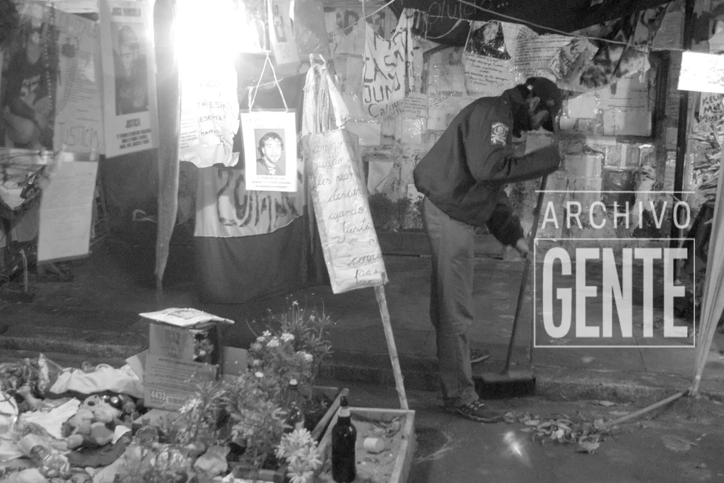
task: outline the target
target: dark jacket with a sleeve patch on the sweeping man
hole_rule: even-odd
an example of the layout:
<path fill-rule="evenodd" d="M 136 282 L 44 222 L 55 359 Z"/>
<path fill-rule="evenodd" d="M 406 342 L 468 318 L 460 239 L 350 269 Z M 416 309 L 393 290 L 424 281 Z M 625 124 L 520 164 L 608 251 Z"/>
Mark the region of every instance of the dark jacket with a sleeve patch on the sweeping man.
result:
<path fill-rule="evenodd" d="M 415 186 L 447 216 L 473 226 L 487 225 L 497 240 L 515 245 L 523 237 L 503 188 L 554 172 L 557 146 L 513 156 L 513 118 L 526 125 L 526 104 L 510 89 L 476 99 L 452 120 L 413 173 Z"/>

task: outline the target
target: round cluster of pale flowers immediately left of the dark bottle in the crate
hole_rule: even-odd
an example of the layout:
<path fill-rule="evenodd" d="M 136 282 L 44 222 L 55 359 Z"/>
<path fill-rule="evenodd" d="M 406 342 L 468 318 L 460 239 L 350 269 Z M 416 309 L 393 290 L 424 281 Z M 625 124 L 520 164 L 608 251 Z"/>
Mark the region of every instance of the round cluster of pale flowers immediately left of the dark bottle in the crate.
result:
<path fill-rule="evenodd" d="M 317 442 L 307 429 L 295 429 L 285 434 L 277 446 L 277 459 L 287 462 L 291 483 L 311 483 L 315 471 L 321 467 Z"/>

